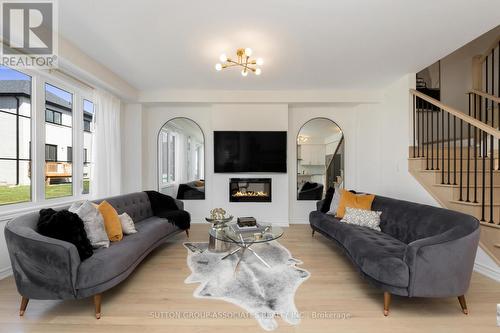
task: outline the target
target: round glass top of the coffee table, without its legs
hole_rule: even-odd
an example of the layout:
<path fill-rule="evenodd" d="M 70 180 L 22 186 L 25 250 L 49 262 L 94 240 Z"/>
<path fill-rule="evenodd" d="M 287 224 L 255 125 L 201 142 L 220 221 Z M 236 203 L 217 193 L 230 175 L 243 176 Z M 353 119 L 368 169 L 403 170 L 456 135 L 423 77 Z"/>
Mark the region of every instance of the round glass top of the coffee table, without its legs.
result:
<path fill-rule="evenodd" d="M 244 232 L 235 232 L 236 222 L 228 223 L 222 228 L 210 228 L 210 235 L 218 240 L 236 244 L 253 244 L 270 242 L 283 236 L 283 229 L 277 226 L 261 224 L 262 230 L 245 230 Z M 234 229 L 233 229 L 234 228 Z"/>

